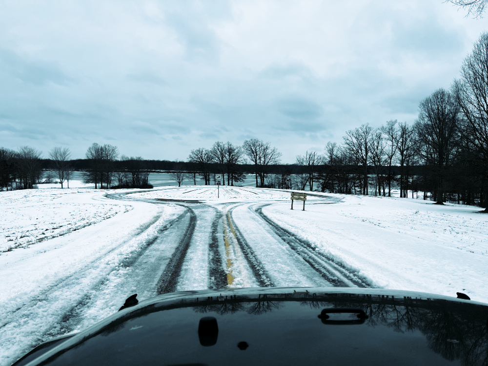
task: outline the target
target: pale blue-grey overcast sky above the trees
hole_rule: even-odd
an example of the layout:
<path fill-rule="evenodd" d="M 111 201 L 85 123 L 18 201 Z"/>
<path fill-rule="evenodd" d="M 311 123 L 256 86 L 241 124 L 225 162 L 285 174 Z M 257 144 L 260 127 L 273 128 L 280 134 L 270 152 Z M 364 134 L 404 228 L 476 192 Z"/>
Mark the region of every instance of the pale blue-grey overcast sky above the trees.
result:
<path fill-rule="evenodd" d="M 443 0 L 2 1 L 0 146 L 186 159 L 257 138 L 284 163 L 412 123 L 487 20 Z"/>

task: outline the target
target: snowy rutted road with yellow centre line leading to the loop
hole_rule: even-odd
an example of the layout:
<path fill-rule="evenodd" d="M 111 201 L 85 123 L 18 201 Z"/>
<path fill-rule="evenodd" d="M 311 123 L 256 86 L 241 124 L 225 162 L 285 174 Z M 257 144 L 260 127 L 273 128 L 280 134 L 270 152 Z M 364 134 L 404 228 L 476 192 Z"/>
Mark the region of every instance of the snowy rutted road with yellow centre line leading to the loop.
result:
<path fill-rule="evenodd" d="M 370 286 L 263 214 L 263 206 L 289 200 L 283 191 L 263 194 L 224 188 L 224 202 L 215 200 L 216 191 L 204 187 L 107 196 L 153 204 L 172 202 L 185 209 L 174 229 L 183 234 L 178 244 L 163 245 L 172 254 L 161 262 L 167 263 L 153 294 L 250 286 Z M 245 201 L 228 202 L 239 199 Z M 312 200 L 314 204 L 335 202 L 325 196 Z M 183 217 L 187 217 L 184 224 L 180 223 Z"/>

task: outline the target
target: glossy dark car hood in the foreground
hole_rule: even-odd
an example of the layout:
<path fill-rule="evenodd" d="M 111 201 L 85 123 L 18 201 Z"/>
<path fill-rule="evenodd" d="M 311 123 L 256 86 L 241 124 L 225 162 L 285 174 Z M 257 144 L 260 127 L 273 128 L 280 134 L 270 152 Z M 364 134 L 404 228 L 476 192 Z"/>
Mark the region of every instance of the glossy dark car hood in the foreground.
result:
<path fill-rule="evenodd" d="M 27 365 L 487 365 L 487 321 L 487 304 L 421 292 L 184 291 L 123 309 Z"/>

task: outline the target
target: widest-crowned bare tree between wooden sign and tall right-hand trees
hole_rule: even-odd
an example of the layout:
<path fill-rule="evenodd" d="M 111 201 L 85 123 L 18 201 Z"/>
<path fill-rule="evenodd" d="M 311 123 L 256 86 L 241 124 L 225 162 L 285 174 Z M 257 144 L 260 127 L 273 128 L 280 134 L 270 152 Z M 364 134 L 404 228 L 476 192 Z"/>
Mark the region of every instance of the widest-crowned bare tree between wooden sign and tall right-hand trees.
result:
<path fill-rule="evenodd" d="M 368 177 L 367 165 L 369 163 L 369 154 L 371 139 L 373 137 L 373 128 L 369 124 L 362 124 L 361 127 L 347 131 L 344 136 L 344 145 L 350 154 L 353 162 L 358 165 L 362 171 L 363 194 L 368 195 Z"/>

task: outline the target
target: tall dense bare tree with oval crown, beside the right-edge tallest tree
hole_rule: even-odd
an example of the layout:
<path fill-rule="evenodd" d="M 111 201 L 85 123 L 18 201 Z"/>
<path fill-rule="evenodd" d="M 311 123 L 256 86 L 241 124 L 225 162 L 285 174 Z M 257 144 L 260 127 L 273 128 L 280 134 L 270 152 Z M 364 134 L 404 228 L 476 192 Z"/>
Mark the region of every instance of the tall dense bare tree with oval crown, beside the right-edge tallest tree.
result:
<path fill-rule="evenodd" d="M 419 104 L 419 117 L 415 123 L 418 139 L 427 147 L 425 161 L 437 176 L 437 204 L 443 203 L 443 177 L 445 168 L 453 162 L 458 145 L 459 105 L 444 89 L 434 91 Z"/>

